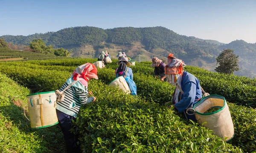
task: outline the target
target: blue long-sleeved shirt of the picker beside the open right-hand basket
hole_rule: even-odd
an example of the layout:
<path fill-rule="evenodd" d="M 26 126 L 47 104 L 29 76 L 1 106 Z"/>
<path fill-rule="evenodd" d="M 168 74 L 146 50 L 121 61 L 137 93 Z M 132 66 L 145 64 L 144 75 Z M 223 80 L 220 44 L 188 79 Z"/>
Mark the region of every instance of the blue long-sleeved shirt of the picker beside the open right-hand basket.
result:
<path fill-rule="evenodd" d="M 175 104 L 175 108 L 180 113 L 195 105 L 198 102 L 196 99 L 202 98 L 200 82 L 189 72 L 184 71 L 182 74 L 181 89 L 184 94 L 181 95 L 182 99 Z"/>

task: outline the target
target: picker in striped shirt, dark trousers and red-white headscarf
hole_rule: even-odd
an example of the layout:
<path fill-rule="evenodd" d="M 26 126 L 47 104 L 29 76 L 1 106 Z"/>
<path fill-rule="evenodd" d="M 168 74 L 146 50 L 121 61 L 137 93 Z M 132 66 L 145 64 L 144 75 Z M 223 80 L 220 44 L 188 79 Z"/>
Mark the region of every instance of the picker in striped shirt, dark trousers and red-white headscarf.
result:
<path fill-rule="evenodd" d="M 72 120 L 76 120 L 77 114 L 82 105 L 94 102 L 92 92 L 88 92 L 88 82 L 90 79 L 98 79 L 97 68 L 91 63 L 86 63 L 76 68 L 67 79 L 59 91 L 64 91 L 64 99 L 57 98 L 56 113 L 58 122 L 64 135 L 67 153 L 79 153 L 80 148 L 77 144 L 78 137 L 70 132 Z"/>

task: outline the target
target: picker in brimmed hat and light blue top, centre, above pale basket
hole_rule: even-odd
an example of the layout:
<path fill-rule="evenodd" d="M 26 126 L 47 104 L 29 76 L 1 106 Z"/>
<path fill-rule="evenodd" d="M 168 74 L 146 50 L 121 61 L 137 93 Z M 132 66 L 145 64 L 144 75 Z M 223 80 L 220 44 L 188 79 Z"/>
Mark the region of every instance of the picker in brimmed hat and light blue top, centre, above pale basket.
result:
<path fill-rule="evenodd" d="M 116 78 L 120 76 L 126 76 L 133 80 L 133 73 L 131 68 L 129 68 L 131 66 L 131 63 L 128 62 L 128 59 L 125 56 L 122 56 L 120 57 L 117 64 L 119 65 L 119 67 L 116 68 Z"/>

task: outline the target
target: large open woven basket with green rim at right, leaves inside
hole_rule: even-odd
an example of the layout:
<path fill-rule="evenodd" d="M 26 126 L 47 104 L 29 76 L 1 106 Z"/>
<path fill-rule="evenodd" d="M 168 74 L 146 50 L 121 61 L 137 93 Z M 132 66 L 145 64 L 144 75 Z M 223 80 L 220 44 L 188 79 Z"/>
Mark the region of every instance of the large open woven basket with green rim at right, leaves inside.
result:
<path fill-rule="evenodd" d="M 207 113 L 212 108 L 218 108 L 218 110 Z M 186 112 L 190 115 L 195 114 L 195 118 L 200 125 L 213 130 L 224 141 L 233 138 L 234 125 L 226 99 L 223 96 L 205 96 L 193 108 L 188 108 Z"/>

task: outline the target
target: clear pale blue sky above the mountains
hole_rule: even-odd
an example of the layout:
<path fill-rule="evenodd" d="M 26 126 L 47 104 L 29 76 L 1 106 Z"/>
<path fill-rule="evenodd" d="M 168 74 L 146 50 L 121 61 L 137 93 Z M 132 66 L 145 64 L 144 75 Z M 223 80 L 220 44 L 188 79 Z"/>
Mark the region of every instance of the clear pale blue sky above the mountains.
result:
<path fill-rule="evenodd" d="M 163 26 L 229 43 L 256 42 L 256 0 L 0 0 L 0 36 L 75 26 Z"/>

